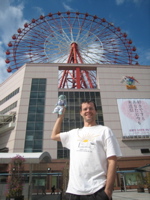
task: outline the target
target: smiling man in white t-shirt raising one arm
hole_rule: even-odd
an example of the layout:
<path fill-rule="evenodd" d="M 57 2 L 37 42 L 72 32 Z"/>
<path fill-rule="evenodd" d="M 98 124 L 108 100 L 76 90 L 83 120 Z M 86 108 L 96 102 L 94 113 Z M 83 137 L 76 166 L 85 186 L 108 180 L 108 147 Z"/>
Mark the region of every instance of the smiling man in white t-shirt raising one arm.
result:
<path fill-rule="evenodd" d="M 59 115 L 51 139 L 70 149 L 67 196 L 69 200 L 110 200 L 116 175 L 119 145 L 106 127 L 96 124 L 97 108 L 93 101 L 81 103 L 84 127 L 60 133 L 65 109 Z"/>

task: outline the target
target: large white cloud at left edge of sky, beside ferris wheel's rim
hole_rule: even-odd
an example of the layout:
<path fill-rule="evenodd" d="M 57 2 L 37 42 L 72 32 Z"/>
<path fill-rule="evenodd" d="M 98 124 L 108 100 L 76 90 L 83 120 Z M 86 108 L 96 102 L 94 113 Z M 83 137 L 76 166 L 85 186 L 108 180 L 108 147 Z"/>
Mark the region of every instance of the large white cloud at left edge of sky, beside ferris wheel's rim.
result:
<path fill-rule="evenodd" d="M 22 28 L 26 22 L 23 18 L 23 4 L 12 6 L 11 2 L 13 1 L 1 1 L 0 6 L 0 83 L 10 76 L 6 71 L 8 66 L 5 63 L 7 44 L 17 29 Z"/>

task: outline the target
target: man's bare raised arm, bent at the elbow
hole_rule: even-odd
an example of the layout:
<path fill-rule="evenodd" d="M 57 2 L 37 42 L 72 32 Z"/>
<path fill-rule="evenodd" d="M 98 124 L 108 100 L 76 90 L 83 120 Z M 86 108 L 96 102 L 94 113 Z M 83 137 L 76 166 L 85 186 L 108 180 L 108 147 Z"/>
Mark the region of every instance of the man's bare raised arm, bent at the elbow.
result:
<path fill-rule="evenodd" d="M 64 114 L 65 114 L 65 108 L 63 109 L 62 115 L 58 116 L 58 118 L 54 124 L 52 134 L 51 134 L 52 140 L 60 141 L 60 131 L 61 131 L 61 125 L 62 125 L 62 121 L 64 118 Z"/>

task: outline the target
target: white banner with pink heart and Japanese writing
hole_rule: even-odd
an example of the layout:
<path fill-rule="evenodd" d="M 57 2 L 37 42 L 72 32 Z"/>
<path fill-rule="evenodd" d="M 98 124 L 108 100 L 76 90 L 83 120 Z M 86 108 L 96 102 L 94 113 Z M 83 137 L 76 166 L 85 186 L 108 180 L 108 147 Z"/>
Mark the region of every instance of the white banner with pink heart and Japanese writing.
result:
<path fill-rule="evenodd" d="M 117 99 L 123 136 L 150 136 L 150 99 Z"/>

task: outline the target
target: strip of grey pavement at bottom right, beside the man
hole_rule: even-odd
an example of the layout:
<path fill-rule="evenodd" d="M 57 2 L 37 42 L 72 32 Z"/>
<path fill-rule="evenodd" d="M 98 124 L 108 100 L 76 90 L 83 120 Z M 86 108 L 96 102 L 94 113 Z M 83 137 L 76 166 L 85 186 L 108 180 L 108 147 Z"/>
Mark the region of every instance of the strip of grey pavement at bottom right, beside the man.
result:
<path fill-rule="evenodd" d="M 126 192 L 115 190 L 113 192 L 113 200 L 150 200 L 150 193 L 147 190 L 139 193 L 136 189 L 127 190 Z"/>

